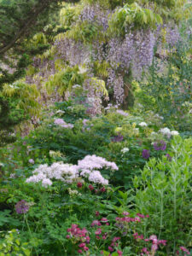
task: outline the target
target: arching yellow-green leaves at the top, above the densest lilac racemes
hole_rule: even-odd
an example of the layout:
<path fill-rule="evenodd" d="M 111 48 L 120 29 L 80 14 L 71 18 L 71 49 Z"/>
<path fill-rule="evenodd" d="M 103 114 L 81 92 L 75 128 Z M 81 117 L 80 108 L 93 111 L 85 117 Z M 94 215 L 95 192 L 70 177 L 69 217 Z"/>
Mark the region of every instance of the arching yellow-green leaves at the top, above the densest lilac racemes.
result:
<path fill-rule="evenodd" d="M 132 3 L 125 4 L 123 8 L 115 11 L 109 20 L 109 29 L 114 35 L 124 36 L 127 26 L 155 28 L 158 23 L 162 23 L 160 15 L 155 15 L 152 10 L 144 9 L 137 3 Z"/>

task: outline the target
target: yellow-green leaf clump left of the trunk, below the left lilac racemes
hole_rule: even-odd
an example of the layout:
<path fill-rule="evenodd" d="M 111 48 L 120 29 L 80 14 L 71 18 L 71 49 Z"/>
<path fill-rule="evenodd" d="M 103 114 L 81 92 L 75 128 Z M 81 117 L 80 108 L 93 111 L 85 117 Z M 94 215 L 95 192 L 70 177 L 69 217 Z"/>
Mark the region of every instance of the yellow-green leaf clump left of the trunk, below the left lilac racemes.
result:
<path fill-rule="evenodd" d="M 81 73 L 79 66 L 66 67 L 64 70 L 52 75 L 49 81 L 45 83 L 45 87 L 49 94 L 57 88 L 60 95 L 63 96 L 67 90 L 72 89 L 73 85 L 82 85 L 85 78 L 86 73 Z"/>

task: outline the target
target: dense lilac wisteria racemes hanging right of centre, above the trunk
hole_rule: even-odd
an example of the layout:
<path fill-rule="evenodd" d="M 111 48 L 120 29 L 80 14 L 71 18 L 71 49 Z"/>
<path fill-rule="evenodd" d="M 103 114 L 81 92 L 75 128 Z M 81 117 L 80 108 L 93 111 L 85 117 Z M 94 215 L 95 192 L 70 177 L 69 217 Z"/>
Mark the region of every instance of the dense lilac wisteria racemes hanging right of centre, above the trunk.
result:
<path fill-rule="evenodd" d="M 151 65 L 154 56 L 154 33 L 148 30 L 129 32 L 122 41 L 112 38 L 109 41 L 108 61 L 115 69 L 125 70 L 138 75 L 143 67 Z"/>

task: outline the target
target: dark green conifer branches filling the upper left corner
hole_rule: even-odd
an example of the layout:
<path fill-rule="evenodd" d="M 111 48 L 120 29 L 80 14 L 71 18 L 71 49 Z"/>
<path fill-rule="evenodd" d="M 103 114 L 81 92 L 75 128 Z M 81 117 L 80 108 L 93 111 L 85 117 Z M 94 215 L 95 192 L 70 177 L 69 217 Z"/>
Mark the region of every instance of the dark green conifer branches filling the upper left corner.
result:
<path fill-rule="evenodd" d="M 3 84 L 14 83 L 25 75 L 26 67 L 34 56 L 34 46 L 27 44 L 61 8 L 61 3 L 79 0 L 0 0 L 0 136 L 6 138 L 12 127 L 22 119 L 13 103 L 1 95 Z M 49 45 L 36 45 L 41 53 Z M 14 114 L 13 114 L 14 113 Z"/>

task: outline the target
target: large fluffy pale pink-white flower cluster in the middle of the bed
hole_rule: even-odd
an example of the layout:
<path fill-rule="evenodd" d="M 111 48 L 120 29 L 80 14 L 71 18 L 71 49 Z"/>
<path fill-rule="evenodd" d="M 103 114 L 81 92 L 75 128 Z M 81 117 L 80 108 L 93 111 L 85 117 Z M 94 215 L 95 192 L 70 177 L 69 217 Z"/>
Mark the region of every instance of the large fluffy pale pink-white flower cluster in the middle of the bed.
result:
<path fill-rule="evenodd" d="M 77 166 L 55 162 L 51 166 L 40 165 L 32 173 L 31 177 L 26 179 L 26 183 L 39 183 L 46 188 L 52 185 L 51 179 L 61 180 L 64 183 L 73 183 L 77 177 L 87 177 L 90 182 L 108 184 L 108 180 L 102 177 L 98 169 L 103 167 L 112 170 L 118 170 L 115 163 L 109 162 L 102 157 L 87 155 L 84 160 L 79 160 Z"/>

